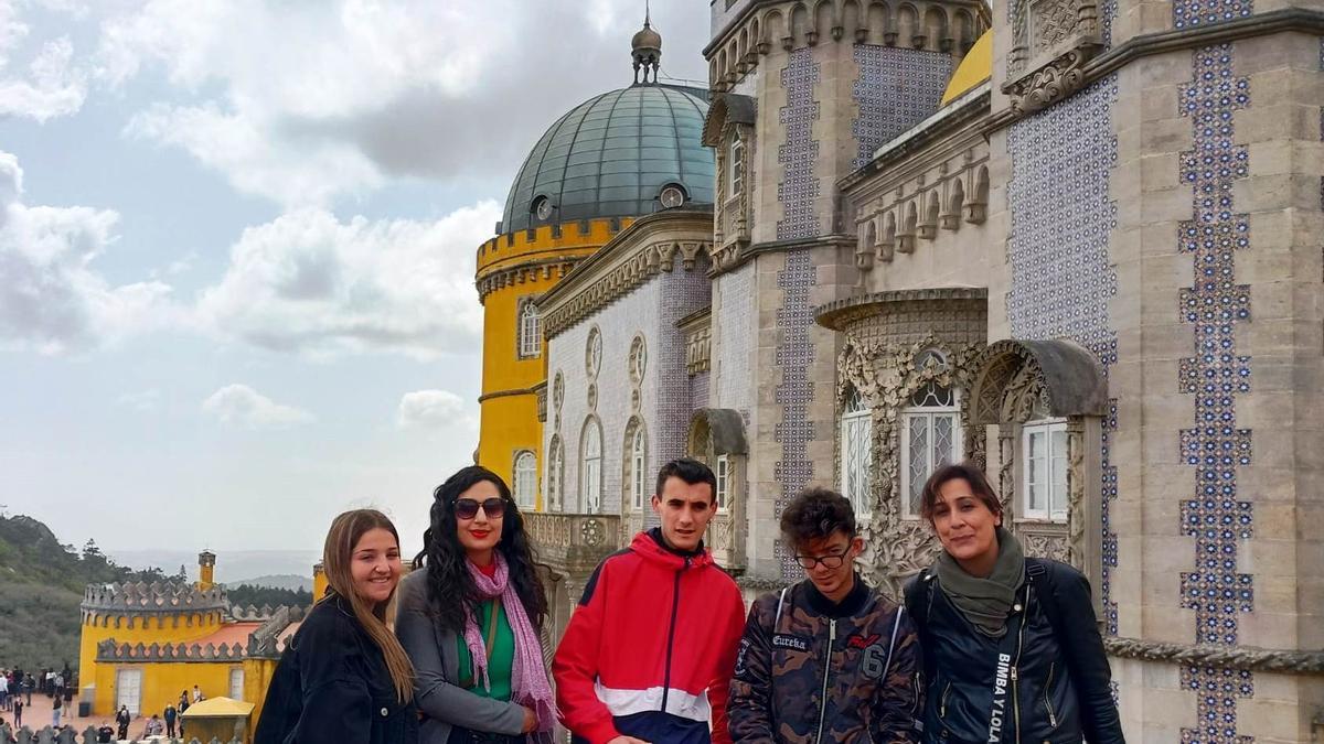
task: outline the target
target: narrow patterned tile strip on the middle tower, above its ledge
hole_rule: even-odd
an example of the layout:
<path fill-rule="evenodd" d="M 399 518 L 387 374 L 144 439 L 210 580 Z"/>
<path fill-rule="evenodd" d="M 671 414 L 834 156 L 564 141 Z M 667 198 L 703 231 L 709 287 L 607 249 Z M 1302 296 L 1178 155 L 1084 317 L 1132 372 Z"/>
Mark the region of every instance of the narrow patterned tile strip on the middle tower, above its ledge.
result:
<path fill-rule="evenodd" d="M 818 103 L 814 101 L 818 73 L 820 65 L 814 62 L 813 49 L 809 48 L 792 52 L 786 68 L 781 70 L 786 105 L 781 107 L 777 120 L 786 130 L 786 142 L 777 147 L 777 163 L 785 168 L 782 180 L 777 184 L 777 201 L 782 205 L 777 240 L 808 238 L 817 236 L 821 229 L 816 209 L 818 176 L 814 175 L 818 140 L 813 132 L 818 119 Z"/>

